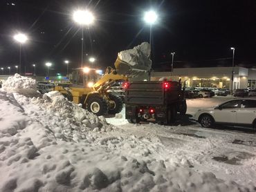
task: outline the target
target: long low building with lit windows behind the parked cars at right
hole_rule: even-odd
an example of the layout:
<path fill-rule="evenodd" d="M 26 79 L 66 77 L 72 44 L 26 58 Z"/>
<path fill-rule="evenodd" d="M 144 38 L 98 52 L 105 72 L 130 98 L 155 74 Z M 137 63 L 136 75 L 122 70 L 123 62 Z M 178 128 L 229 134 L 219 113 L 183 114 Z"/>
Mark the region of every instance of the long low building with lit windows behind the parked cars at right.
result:
<path fill-rule="evenodd" d="M 174 68 L 173 76 L 180 76 L 188 87 L 231 88 L 232 67 Z M 151 79 L 172 79 L 172 73 L 152 72 Z M 256 69 L 234 67 L 233 89 L 256 87 Z"/>

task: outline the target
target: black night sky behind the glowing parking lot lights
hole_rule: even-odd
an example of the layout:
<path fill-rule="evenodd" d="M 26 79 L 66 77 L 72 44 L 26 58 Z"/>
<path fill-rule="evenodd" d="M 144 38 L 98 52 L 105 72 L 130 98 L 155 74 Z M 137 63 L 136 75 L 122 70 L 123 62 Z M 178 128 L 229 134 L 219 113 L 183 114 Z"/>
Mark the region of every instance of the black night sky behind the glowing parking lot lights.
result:
<path fill-rule="evenodd" d="M 174 68 L 232 66 L 231 46 L 236 65 L 256 66 L 255 0 L 1 0 L 0 67 L 19 64 L 19 44 L 13 39 L 18 31 L 29 36 L 22 48 L 28 71 L 35 63 L 44 74 L 51 61 L 56 73 L 64 73 L 64 59 L 73 68 L 80 66 L 81 30 L 72 19 L 77 8 L 88 8 L 96 17 L 84 30 L 84 54 L 95 57 L 102 69 L 113 66 L 120 50 L 149 41 L 143 12 L 151 8 L 159 14 L 152 27 L 154 69 L 170 66 L 172 51 Z"/>

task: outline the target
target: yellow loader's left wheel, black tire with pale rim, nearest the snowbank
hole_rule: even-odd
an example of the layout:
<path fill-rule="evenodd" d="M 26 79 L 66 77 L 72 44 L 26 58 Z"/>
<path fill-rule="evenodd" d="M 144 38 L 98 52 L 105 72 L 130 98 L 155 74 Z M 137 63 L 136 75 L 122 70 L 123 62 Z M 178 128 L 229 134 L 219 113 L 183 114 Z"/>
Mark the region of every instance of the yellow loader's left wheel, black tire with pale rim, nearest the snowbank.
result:
<path fill-rule="evenodd" d="M 100 95 L 90 95 L 86 102 L 86 108 L 91 113 L 100 116 L 106 115 L 108 111 L 107 101 Z"/>

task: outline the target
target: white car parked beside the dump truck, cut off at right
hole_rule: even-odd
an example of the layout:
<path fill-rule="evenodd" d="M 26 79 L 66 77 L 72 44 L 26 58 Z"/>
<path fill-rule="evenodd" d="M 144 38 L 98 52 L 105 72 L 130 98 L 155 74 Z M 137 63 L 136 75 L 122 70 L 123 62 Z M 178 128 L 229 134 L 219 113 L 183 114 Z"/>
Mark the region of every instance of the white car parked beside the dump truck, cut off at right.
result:
<path fill-rule="evenodd" d="M 215 108 L 199 109 L 194 119 L 206 128 L 226 124 L 256 129 L 256 99 L 232 99 Z"/>

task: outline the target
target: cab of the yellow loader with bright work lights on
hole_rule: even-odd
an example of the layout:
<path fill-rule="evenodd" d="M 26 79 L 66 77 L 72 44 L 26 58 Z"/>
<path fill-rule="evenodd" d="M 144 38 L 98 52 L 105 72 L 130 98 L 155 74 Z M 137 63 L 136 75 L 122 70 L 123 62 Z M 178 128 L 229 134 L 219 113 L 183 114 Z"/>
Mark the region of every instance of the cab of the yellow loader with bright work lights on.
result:
<path fill-rule="evenodd" d="M 72 72 L 72 83 L 75 86 L 91 87 L 102 77 L 101 74 L 95 68 L 75 68 Z"/>

